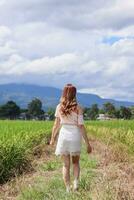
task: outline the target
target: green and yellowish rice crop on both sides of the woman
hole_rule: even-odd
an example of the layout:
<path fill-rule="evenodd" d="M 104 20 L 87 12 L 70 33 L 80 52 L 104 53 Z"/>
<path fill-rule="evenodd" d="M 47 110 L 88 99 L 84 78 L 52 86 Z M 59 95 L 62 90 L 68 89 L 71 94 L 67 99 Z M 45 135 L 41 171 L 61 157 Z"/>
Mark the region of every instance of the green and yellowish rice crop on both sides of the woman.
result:
<path fill-rule="evenodd" d="M 46 144 L 53 122 L 0 121 L 0 183 L 30 167 L 36 146 Z M 134 121 L 86 121 L 90 135 L 134 153 Z"/>

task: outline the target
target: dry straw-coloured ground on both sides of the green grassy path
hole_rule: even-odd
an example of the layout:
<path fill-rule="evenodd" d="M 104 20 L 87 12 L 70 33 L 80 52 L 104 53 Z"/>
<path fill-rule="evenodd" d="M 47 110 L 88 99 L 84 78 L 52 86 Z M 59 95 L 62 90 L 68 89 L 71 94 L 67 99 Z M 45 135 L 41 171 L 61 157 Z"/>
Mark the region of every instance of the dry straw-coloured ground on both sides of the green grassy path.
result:
<path fill-rule="evenodd" d="M 103 144 L 102 142 L 92 139 L 91 145 L 93 152 L 90 157 L 98 160 L 97 168 L 94 169 L 96 178 L 91 185 L 91 194 L 93 200 L 134 200 L 134 164 L 129 163 L 126 157 L 122 157 L 117 151 Z M 0 200 L 15 200 L 17 195 L 22 191 L 24 185 L 32 187 L 32 183 L 40 176 L 49 179 L 50 176 L 61 174 L 61 167 L 52 168 L 47 165 L 48 170 L 40 170 L 44 163 L 50 163 L 59 158 L 53 154 L 55 147 L 47 145 L 41 157 L 37 153 L 33 161 L 34 170 L 24 173 L 20 177 L 0 186 Z M 124 156 L 124 155 L 123 155 Z"/>

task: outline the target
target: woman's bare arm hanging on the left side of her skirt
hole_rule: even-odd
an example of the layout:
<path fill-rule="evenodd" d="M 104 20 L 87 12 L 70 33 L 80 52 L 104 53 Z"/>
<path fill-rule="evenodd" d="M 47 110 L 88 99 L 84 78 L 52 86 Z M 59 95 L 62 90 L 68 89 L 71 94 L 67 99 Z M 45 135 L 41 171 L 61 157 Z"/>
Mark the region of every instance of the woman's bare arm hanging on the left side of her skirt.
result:
<path fill-rule="evenodd" d="M 60 128 L 60 118 L 56 117 L 55 121 L 54 121 L 53 128 L 52 128 L 50 145 L 53 145 L 55 143 L 56 137 L 58 135 L 59 128 Z"/>

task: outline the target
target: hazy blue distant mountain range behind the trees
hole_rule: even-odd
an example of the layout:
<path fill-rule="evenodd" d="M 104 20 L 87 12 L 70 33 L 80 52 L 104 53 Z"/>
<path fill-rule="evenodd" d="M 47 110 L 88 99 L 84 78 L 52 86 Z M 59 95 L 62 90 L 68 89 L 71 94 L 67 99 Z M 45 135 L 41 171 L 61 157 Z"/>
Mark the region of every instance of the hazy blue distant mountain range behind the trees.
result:
<path fill-rule="evenodd" d="M 35 97 L 39 98 L 43 103 L 43 108 L 53 107 L 59 103 L 62 90 L 49 86 L 38 86 L 30 84 L 2 84 L 0 85 L 0 104 L 4 104 L 9 100 L 15 101 L 22 108 L 26 108 L 27 104 Z M 77 93 L 77 100 L 83 107 L 90 107 L 97 103 L 99 107 L 106 102 L 119 106 L 134 106 L 134 102 L 117 101 L 113 99 L 104 99 L 95 94 Z"/>

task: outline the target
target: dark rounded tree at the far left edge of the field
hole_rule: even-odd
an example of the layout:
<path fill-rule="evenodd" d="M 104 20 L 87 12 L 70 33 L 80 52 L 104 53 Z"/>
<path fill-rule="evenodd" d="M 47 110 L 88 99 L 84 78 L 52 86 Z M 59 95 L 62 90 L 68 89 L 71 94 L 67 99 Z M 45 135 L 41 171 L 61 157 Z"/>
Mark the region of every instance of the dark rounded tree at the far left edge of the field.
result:
<path fill-rule="evenodd" d="M 0 107 L 0 118 L 16 119 L 20 114 L 20 107 L 14 101 L 8 101 Z"/>

